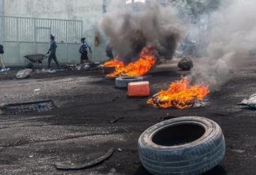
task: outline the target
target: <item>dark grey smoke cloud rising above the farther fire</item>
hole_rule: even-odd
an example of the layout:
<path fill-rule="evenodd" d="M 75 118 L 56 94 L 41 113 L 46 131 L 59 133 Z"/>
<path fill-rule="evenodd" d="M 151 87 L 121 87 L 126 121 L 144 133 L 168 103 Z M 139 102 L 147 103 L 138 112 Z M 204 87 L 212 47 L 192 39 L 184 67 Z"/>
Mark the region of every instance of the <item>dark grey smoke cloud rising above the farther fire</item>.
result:
<path fill-rule="evenodd" d="M 152 45 L 156 57 L 171 58 L 182 33 L 174 8 L 140 4 L 134 11 L 124 6 L 114 3 L 100 21 L 115 55 L 124 62 L 135 61 L 143 47 Z"/>

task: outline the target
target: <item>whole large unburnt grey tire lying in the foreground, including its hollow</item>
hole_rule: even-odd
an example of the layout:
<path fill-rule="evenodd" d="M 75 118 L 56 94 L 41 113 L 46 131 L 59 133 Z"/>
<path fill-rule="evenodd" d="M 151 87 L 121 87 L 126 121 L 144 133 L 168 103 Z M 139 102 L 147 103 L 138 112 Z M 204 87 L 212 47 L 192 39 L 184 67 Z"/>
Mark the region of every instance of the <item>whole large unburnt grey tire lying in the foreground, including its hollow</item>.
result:
<path fill-rule="evenodd" d="M 139 137 L 139 157 L 151 174 L 203 174 L 225 155 L 220 126 L 207 118 L 166 120 Z"/>

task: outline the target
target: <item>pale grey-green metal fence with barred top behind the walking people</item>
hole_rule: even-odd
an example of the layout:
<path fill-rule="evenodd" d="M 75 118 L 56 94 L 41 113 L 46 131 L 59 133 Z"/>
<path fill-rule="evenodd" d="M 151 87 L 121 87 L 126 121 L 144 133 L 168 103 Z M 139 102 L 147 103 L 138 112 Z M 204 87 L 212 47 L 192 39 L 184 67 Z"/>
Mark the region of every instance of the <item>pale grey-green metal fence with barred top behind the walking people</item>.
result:
<path fill-rule="evenodd" d="M 13 16 L 0 16 L 0 20 L 4 29 L 4 62 L 7 65 L 26 64 L 24 55 L 46 54 L 51 33 L 55 34 L 58 43 L 59 62 L 79 62 L 82 21 Z"/>

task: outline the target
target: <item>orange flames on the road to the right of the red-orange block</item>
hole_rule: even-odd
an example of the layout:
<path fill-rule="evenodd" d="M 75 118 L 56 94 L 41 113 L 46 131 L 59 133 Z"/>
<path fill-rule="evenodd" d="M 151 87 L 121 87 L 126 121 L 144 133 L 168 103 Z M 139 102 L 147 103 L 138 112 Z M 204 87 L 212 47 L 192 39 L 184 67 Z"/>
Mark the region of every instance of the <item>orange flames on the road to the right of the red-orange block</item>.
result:
<path fill-rule="evenodd" d="M 209 93 L 208 86 L 191 86 L 188 78 L 184 77 L 172 83 L 168 90 L 154 95 L 147 103 L 160 108 L 191 108 L 196 101 L 203 101 Z"/>

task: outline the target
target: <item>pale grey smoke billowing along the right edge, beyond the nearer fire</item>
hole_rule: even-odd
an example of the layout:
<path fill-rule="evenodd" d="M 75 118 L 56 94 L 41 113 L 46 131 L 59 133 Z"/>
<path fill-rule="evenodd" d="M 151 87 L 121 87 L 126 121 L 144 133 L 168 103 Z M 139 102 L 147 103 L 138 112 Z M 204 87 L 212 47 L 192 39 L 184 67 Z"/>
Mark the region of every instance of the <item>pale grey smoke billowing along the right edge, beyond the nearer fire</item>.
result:
<path fill-rule="evenodd" d="M 210 16 L 208 57 L 196 61 L 190 78 L 220 86 L 250 61 L 256 47 L 256 1 L 225 0 Z"/>

